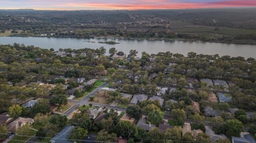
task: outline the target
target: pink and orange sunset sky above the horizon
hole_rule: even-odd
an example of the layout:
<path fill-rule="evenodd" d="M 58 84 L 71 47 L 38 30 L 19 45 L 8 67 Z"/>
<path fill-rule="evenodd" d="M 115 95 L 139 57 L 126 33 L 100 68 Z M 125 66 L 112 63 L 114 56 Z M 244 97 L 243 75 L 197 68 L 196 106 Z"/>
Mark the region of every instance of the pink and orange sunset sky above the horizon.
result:
<path fill-rule="evenodd" d="M 0 0 L 0 9 L 138 10 L 256 7 L 256 0 Z"/>

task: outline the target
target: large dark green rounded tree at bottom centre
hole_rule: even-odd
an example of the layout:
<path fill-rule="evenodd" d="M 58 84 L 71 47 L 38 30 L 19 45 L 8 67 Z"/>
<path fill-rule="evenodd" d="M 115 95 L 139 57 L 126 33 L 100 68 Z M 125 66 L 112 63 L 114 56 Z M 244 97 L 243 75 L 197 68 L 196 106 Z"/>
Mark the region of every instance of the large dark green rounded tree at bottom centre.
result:
<path fill-rule="evenodd" d="M 117 123 L 114 131 L 117 133 L 117 136 L 122 136 L 123 138 L 132 138 L 138 135 L 136 125 L 130 121 L 120 121 Z"/>

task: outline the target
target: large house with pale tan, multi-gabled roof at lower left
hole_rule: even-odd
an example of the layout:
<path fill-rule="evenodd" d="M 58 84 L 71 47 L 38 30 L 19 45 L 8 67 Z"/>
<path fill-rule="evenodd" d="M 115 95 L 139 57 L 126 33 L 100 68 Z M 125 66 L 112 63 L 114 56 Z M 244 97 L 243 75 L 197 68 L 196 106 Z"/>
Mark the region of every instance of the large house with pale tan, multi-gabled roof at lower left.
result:
<path fill-rule="evenodd" d="M 14 121 L 12 121 L 11 123 L 9 123 L 9 125 L 7 125 L 7 130 L 10 133 L 16 133 L 17 129 L 28 124 L 28 125 L 32 125 L 34 122 L 33 119 L 31 118 L 18 118 L 15 119 Z"/>

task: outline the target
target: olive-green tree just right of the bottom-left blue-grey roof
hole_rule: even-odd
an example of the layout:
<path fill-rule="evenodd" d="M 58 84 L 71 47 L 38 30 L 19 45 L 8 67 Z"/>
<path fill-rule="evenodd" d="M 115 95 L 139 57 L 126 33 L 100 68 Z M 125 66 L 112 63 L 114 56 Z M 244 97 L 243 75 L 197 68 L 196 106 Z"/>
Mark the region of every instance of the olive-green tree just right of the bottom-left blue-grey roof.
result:
<path fill-rule="evenodd" d="M 83 129 L 81 127 L 77 127 L 76 129 L 72 130 L 72 133 L 70 135 L 70 140 L 72 141 L 78 141 L 80 142 L 88 135 L 88 131 L 86 129 Z"/>

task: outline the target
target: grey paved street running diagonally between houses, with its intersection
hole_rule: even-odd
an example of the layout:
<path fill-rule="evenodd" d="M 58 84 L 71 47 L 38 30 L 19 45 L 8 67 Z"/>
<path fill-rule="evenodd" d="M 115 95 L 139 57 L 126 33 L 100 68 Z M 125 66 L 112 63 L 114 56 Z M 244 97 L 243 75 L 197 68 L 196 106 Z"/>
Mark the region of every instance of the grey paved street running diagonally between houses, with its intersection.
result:
<path fill-rule="evenodd" d="M 75 103 L 74 106 L 72 106 L 72 108 L 68 109 L 66 112 L 64 112 L 63 115 L 66 115 L 66 116 L 69 116 L 70 114 L 72 114 L 72 112 L 74 112 L 74 110 L 83 105 L 83 104 L 86 104 L 87 101 L 89 100 L 89 98 L 93 95 L 95 95 L 96 92 L 100 91 L 102 88 L 104 88 L 108 83 L 104 83 L 102 84 L 101 86 L 97 87 L 95 90 L 91 91 L 91 93 L 89 93 L 89 95 L 87 95 L 86 97 L 84 97 L 83 99 L 81 99 L 80 101 L 75 101 L 75 100 L 72 100 L 72 99 L 68 99 L 69 102 L 71 103 Z M 89 105 L 89 103 L 88 103 Z"/>

